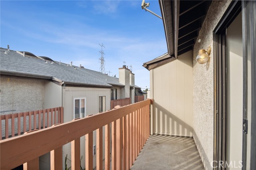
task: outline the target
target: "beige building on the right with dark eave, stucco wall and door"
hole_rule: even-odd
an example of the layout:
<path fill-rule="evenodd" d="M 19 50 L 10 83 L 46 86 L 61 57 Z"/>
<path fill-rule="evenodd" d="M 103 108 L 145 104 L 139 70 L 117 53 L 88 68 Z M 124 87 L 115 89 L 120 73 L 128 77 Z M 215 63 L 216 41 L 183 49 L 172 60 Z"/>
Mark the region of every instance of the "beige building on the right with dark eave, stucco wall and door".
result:
<path fill-rule="evenodd" d="M 222 161 L 255 169 L 256 1 L 159 4 L 168 53 L 143 65 L 154 99 L 151 132 L 193 137 L 207 170 Z M 199 64 L 208 46 L 210 59 Z"/>

